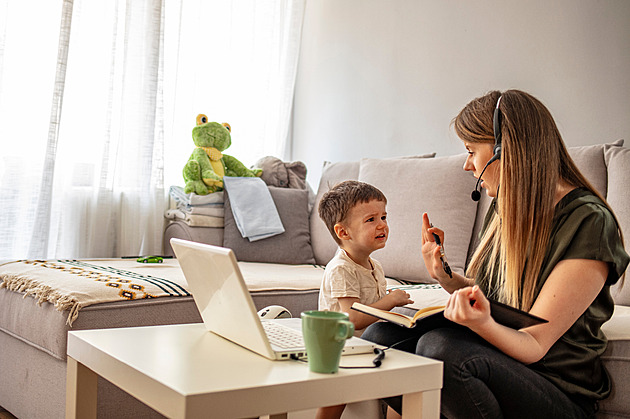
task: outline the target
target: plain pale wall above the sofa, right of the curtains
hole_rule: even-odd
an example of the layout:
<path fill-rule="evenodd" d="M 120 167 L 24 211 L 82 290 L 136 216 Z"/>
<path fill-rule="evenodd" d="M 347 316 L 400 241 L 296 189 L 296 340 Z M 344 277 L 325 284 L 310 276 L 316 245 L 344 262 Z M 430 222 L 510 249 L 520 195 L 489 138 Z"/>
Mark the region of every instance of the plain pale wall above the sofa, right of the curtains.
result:
<path fill-rule="evenodd" d="M 311 0 L 293 160 L 464 151 L 451 119 L 489 90 L 538 97 L 568 145 L 630 142 L 627 0 Z M 627 145 L 627 144 L 626 144 Z"/>

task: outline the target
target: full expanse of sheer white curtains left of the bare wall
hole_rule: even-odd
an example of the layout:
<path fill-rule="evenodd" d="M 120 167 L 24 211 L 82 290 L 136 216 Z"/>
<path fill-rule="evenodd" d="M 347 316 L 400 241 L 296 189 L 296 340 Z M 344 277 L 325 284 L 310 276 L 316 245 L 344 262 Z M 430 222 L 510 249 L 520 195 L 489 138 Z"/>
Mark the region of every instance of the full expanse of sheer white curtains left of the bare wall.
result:
<path fill-rule="evenodd" d="M 0 259 L 161 252 L 198 113 L 285 158 L 304 0 L 0 0 Z"/>

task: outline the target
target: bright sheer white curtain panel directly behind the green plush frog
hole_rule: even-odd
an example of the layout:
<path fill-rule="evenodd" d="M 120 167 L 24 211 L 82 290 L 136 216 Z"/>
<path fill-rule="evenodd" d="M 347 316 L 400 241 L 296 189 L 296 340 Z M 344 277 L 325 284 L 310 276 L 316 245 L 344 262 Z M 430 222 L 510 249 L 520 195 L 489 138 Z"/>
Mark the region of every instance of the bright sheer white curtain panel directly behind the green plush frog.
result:
<path fill-rule="evenodd" d="M 181 30 L 165 43 L 167 57 L 173 58 L 165 61 L 166 73 L 178 74 L 165 81 L 165 92 L 173 95 L 165 100 L 166 154 L 178 159 L 167 168 L 169 185 L 183 185 L 181 170 L 193 150 L 191 131 L 200 113 L 230 124 L 232 145 L 225 153 L 248 167 L 266 155 L 290 158 L 287 138 L 304 3 L 182 3 Z M 168 23 L 167 29 L 176 27 Z"/>

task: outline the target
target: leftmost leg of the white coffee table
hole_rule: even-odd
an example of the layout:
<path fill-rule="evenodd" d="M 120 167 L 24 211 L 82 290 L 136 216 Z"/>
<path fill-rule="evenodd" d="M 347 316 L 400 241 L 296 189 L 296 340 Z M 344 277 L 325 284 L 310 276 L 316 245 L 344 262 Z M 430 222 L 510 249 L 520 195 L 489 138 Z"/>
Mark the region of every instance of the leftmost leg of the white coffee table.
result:
<path fill-rule="evenodd" d="M 66 419 L 96 418 L 97 375 L 68 357 L 66 373 Z"/>

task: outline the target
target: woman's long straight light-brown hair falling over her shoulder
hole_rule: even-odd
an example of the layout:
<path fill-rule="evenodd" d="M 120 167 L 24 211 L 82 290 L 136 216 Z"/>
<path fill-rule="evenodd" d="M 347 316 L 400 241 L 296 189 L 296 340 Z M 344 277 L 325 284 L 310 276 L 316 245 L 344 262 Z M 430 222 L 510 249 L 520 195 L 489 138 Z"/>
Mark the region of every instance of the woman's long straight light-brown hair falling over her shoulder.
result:
<path fill-rule="evenodd" d="M 476 278 L 487 263 L 496 298 L 529 310 L 551 234 L 558 181 L 585 187 L 606 201 L 569 156 L 549 110 L 525 92 L 494 91 L 471 101 L 453 120 L 462 141 L 494 143 L 493 113 L 499 97 L 502 151 L 497 211 L 466 274 Z"/>

